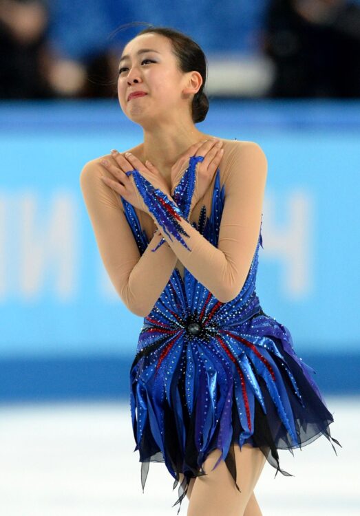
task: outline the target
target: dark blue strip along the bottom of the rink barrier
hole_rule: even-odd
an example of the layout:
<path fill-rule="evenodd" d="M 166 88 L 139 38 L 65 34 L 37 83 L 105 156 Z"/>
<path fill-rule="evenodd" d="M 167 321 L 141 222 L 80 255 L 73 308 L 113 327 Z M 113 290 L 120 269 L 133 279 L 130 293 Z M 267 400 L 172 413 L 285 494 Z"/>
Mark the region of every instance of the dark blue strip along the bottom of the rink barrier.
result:
<path fill-rule="evenodd" d="M 326 394 L 360 394 L 359 355 L 302 354 Z M 129 400 L 131 357 L 8 358 L 0 361 L 1 403 L 33 400 Z"/>

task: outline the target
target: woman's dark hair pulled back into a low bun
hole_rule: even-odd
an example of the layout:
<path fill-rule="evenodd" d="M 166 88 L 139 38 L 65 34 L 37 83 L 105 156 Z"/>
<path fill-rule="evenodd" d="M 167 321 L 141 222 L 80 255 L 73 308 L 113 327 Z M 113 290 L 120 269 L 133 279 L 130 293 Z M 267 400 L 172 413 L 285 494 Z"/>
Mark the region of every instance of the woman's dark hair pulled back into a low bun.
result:
<path fill-rule="evenodd" d="M 151 25 L 151 23 L 141 21 L 120 25 L 118 29 L 112 32 L 110 39 L 113 39 L 115 34 L 123 29 L 132 28 L 140 24 L 147 25 L 147 28 L 142 29 L 140 32 L 135 34 L 134 38 L 136 38 L 136 36 L 140 36 L 140 34 L 149 33 L 165 36 L 165 38 L 168 38 L 172 43 L 173 54 L 175 54 L 175 56 L 178 58 L 180 70 L 185 73 L 195 70 L 195 72 L 199 72 L 201 74 L 202 85 L 200 86 L 199 91 L 193 96 L 191 114 L 194 123 L 202 122 L 202 120 L 204 120 L 207 116 L 207 112 L 209 111 L 209 100 L 204 92 L 204 87 L 207 80 L 207 58 L 204 52 L 198 43 L 195 43 L 193 39 L 178 30 L 169 27 L 156 27 L 155 25 Z"/>

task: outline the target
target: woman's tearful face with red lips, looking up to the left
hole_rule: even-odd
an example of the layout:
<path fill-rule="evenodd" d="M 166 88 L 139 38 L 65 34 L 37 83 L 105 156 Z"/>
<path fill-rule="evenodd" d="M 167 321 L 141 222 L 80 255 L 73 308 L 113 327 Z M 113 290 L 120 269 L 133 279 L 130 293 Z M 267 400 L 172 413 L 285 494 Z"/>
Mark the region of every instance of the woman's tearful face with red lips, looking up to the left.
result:
<path fill-rule="evenodd" d="M 187 76 L 165 36 L 140 34 L 127 43 L 119 61 L 118 99 L 130 120 L 169 120 L 171 112 L 176 115 L 189 105 L 189 95 L 182 94 L 185 85 Z M 145 95 L 129 98 L 132 92 Z"/>

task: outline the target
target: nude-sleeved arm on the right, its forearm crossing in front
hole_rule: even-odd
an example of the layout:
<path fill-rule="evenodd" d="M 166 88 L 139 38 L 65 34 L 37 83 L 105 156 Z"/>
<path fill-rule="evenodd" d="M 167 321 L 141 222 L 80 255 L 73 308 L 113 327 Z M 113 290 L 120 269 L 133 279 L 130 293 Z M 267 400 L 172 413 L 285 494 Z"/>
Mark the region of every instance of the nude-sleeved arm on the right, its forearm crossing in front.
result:
<path fill-rule="evenodd" d="M 180 224 L 182 230 L 178 235 L 187 247 L 162 231 L 184 267 L 223 303 L 239 294 L 248 275 L 260 233 L 266 175 L 267 160 L 261 147 L 255 142 L 239 142 L 225 171 L 225 203 L 218 248 L 183 217 L 178 219 L 178 214 L 170 217 L 171 224 Z M 173 199 L 168 199 L 169 206 L 174 206 Z M 149 215 L 158 224 L 156 212 Z"/>

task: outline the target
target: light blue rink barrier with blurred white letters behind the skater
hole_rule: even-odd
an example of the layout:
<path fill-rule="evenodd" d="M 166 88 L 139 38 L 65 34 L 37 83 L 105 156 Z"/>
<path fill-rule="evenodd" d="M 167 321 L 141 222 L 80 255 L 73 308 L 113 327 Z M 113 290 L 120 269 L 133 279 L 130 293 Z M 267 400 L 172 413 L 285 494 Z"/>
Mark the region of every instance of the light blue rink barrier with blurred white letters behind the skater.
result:
<path fill-rule="evenodd" d="M 266 153 L 260 303 L 320 387 L 359 392 L 360 103 L 211 100 L 198 127 Z M 0 104 L 0 402 L 127 396 L 142 319 L 107 278 L 79 175 L 140 141 L 117 100 Z"/>

